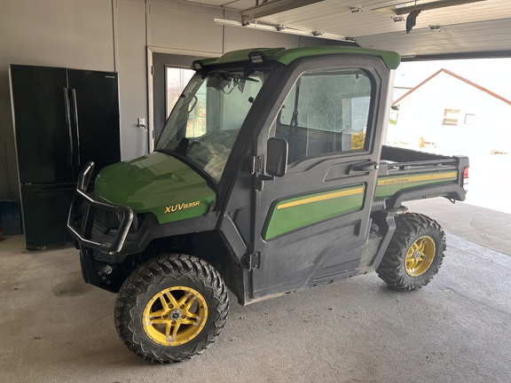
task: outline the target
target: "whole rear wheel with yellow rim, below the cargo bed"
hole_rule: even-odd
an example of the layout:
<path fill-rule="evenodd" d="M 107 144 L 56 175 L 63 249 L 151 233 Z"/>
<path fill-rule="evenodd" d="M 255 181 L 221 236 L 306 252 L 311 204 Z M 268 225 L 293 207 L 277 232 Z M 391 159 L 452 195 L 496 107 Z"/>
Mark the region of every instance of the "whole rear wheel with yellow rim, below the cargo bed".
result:
<path fill-rule="evenodd" d="M 435 220 L 416 213 L 398 215 L 396 231 L 376 272 L 397 290 L 417 290 L 436 275 L 444 251 L 445 233 Z"/>

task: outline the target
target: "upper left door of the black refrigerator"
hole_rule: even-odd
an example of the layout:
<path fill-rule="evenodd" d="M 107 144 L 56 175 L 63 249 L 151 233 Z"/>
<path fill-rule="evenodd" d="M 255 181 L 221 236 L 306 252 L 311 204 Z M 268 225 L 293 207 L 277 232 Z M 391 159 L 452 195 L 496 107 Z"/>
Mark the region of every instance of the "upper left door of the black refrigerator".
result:
<path fill-rule="evenodd" d="M 66 69 L 12 65 L 11 83 L 20 184 L 73 182 Z"/>

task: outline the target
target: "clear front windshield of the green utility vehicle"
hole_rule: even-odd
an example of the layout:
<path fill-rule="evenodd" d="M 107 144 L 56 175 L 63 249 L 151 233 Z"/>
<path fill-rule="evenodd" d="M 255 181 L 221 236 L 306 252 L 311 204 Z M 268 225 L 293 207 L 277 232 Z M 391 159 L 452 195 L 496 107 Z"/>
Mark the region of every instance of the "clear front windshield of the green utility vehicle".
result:
<path fill-rule="evenodd" d="M 218 182 L 267 73 L 195 74 L 170 113 L 157 152 L 177 153 Z"/>

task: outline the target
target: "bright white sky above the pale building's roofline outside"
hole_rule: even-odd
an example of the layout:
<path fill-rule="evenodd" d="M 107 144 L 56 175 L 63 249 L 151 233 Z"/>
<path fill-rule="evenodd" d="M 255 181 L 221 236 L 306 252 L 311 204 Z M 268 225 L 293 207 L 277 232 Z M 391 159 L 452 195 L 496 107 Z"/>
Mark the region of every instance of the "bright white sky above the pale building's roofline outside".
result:
<path fill-rule="evenodd" d="M 394 86 L 413 88 L 438 69 L 447 69 L 511 100 L 511 59 L 455 59 L 402 62 Z"/>

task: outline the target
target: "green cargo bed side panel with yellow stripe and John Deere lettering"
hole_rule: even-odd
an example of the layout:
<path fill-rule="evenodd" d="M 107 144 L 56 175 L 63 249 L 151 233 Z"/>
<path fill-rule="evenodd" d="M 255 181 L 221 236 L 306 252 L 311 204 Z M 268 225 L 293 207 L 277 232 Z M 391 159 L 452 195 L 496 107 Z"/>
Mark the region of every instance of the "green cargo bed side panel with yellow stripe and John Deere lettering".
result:
<path fill-rule="evenodd" d="M 427 184 L 440 184 L 458 179 L 457 171 L 419 173 L 406 176 L 385 176 L 378 178 L 374 198 L 388 198 L 398 191 L 413 189 Z"/>

